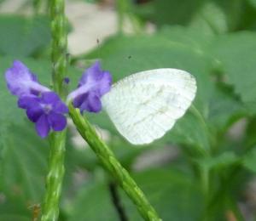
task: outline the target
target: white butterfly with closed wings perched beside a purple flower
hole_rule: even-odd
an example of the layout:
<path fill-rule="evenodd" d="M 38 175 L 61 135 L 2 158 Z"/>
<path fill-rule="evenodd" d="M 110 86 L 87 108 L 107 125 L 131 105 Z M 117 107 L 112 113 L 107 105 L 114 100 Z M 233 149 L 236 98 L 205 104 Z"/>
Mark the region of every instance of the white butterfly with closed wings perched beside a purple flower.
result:
<path fill-rule="evenodd" d="M 155 69 L 113 84 L 102 97 L 102 106 L 131 144 L 149 144 L 172 129 L 195 99 L 195 93 L 195 78 L 188 72 Z"/>

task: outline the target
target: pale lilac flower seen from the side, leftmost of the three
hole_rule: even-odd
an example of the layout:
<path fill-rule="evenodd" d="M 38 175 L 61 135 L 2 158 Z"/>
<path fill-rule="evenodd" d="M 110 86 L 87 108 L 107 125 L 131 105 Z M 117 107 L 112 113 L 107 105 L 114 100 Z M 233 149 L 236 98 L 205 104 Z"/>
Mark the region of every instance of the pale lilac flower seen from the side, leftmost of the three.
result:
<path fill-rule="evenodd" d="M 15 60 L 13 66 L 5 72 L 5 79 L 10 93 L 18 97 L 50 91 L 41 85 L 37 77 L 19 60 Z"/>

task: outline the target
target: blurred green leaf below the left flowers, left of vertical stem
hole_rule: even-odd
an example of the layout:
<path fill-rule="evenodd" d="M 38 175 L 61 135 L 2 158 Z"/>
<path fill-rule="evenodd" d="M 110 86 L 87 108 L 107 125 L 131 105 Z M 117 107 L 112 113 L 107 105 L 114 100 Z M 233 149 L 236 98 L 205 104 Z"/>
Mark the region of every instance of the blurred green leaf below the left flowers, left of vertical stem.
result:
<path fill-rule="evenodd" d="M 38 203 L 44 193 L 48 146 L 32 123 L 6 124 L 1 128 L 1 187 L 26 203 Z M 25 139 L 26 138 L 26 139 Z"/>

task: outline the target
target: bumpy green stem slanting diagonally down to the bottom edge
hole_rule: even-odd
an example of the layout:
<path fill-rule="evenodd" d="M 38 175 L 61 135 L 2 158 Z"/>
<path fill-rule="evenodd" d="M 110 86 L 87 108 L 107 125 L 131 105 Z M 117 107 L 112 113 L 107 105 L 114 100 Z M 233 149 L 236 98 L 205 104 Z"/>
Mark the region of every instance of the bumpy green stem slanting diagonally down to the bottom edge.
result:
<path fill-rule="evenodd" d="M 154 208 L 149 204 L 143 191 L 139 189 L 125 168 L 120 165 L 119 161 L 113 155 L 112 150 L 108 148 L 108 145 L 98 137 L 95 129 L 81 116 L 79 109 L 74 109 L 73 105 L 69 104 L 69 114 L 81 136 L 96 153 L 102 166 L 105 167 L 108 173 L 110 173 L 122 189 L 125 190 L 125 193 L 131 198 L 131 201 L 135 203 L 138 212 L 141 213 L 143 218 L 148 221 L 160 221 L 161 219 Z"/>

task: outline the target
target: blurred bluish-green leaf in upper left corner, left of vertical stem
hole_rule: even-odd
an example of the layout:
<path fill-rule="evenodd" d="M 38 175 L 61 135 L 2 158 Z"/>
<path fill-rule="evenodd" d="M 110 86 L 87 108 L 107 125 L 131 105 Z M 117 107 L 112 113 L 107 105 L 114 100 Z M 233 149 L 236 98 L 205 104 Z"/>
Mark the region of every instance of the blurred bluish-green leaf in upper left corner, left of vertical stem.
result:
<path fill-rule="evenodd" d="M 49 46 L 49 20 L 44 16 L 0 16 L 0 54 L 28 56 Z"/>

